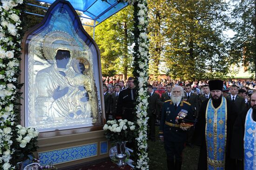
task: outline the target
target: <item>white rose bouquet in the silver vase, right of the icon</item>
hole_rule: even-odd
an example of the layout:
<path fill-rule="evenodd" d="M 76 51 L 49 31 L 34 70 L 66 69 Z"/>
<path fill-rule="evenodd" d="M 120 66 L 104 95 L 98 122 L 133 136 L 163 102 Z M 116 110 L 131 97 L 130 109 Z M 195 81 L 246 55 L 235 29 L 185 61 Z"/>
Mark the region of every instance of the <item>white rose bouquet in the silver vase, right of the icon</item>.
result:
<path fill-rule="evenodd" d="M 106 131 L 104 135 L 112 142 L 131 142 L 134 139 L 135 124 L 126 119 L 108 120 L 103 130 Z"/>

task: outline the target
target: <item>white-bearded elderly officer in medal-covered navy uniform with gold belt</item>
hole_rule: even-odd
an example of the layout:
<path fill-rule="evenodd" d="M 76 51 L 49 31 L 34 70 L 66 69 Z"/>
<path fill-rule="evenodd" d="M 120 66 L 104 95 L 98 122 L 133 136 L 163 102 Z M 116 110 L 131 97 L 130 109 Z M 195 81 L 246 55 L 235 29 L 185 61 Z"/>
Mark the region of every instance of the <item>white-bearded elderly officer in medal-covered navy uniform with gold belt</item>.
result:
<path fill-rule="evenodd" d="M 164 142 L 168 170 L 181 170 L 182 167 L 182 150 L 189 127 L 179 124 L 178 119 L 192 119 L 192 108 L 188 102 L 182 101 L 183 96 L 183 88 L 175 85 L 171 92 L 171 100 L 165 101 L 162 107 L 159 136 Z"/>

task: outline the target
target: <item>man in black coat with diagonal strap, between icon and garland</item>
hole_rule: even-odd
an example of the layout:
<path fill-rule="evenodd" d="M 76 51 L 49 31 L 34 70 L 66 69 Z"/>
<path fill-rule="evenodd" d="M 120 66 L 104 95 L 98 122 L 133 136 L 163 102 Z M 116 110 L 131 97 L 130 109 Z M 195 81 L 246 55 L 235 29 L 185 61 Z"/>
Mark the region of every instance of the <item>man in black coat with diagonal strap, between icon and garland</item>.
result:
<path fill-rule="evenodd" d="M 134 78 L 128 78 L 128 88 L 121 90 L 119 93 L 116 114 L 122 119 L 128 121 L 135 121 L 135 105 L 136 105 L 137 92 L 134 85 Z"/>

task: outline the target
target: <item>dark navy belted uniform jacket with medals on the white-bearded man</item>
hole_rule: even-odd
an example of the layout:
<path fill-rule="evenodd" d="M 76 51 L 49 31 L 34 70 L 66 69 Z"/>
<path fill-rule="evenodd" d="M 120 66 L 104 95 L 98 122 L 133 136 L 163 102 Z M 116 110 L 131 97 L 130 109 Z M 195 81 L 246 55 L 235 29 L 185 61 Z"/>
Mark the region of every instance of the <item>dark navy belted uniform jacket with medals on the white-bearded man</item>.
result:
<path fill-rule="evenodd" d="M 192 120 L 193 111 L 191 105 L 186 101 L 181 101 L 178 105 L 177 109 L 175 110 L 174 104 L 171 100 L 165 101 L 162 107 L 162 115 L 161 115 L 161 122 L 160 122 L 160 136 L 171 136 L 172 142 L 185 142 L 187 139 L 187 132 L 181 130 L 179 127 L 169 126 L 165 124 L 165 122 L 178 124 L 175 120 L 178 114 L 181 111 L 188 112 L 186 119 Z"/>

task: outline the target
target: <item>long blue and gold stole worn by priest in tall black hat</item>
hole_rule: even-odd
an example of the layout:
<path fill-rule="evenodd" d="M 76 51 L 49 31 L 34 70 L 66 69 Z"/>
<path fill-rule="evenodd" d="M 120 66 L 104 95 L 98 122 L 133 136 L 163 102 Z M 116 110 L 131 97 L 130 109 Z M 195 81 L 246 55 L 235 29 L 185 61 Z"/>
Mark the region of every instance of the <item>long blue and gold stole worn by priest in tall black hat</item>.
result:
<path fill-rule="evenodd" d="M 222 97 L 218 108 L 214 108 L 210 98 L 206 111 L 205 138 L 208 170 L 224 170 L 227 136 L 226 98 Z"/>

